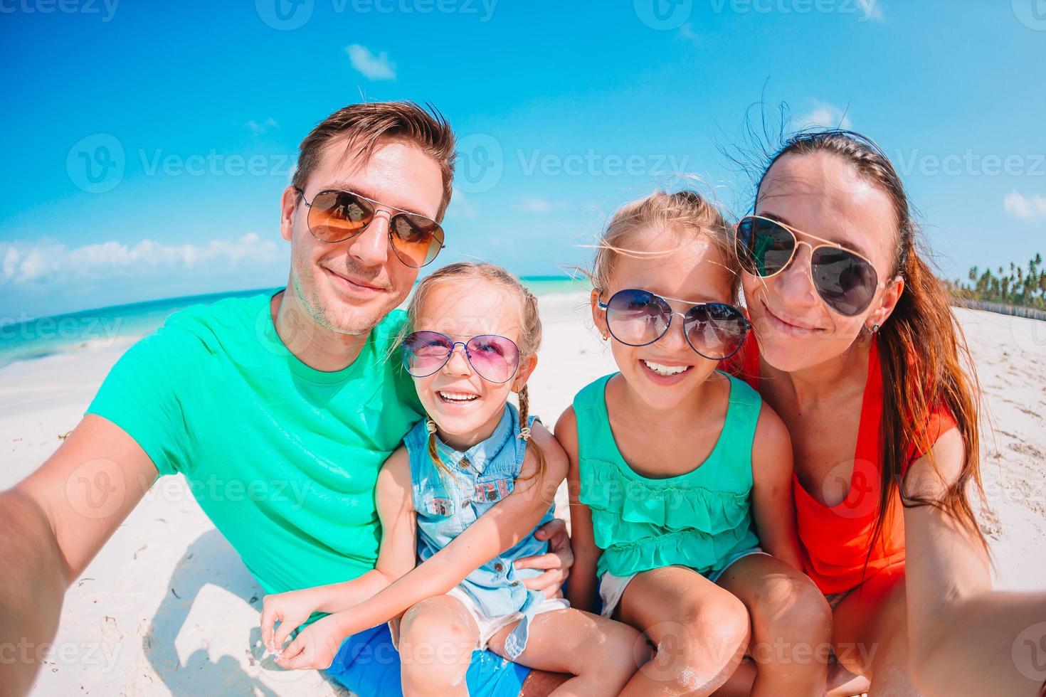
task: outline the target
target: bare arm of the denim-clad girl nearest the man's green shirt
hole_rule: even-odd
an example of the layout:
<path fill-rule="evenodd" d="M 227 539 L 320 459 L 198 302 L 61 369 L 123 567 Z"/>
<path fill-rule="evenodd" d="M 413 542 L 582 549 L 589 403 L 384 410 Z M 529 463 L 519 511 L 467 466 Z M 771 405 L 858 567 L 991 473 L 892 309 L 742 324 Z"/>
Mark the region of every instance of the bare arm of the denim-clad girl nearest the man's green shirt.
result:
<path fill-rule="evenodd" d="M 387 588 L 414 567 L 415 513 L 411 496 L 410 456 L 401 446 L 382 465 L 374 487 L 382 541 L 374 568 L 341 583 L 266 596 L 262 606 L 262 637 L 276 651 L 313 612 L 339 612 Z M 279 626 L 275 627 L 276 620 Z"/>

